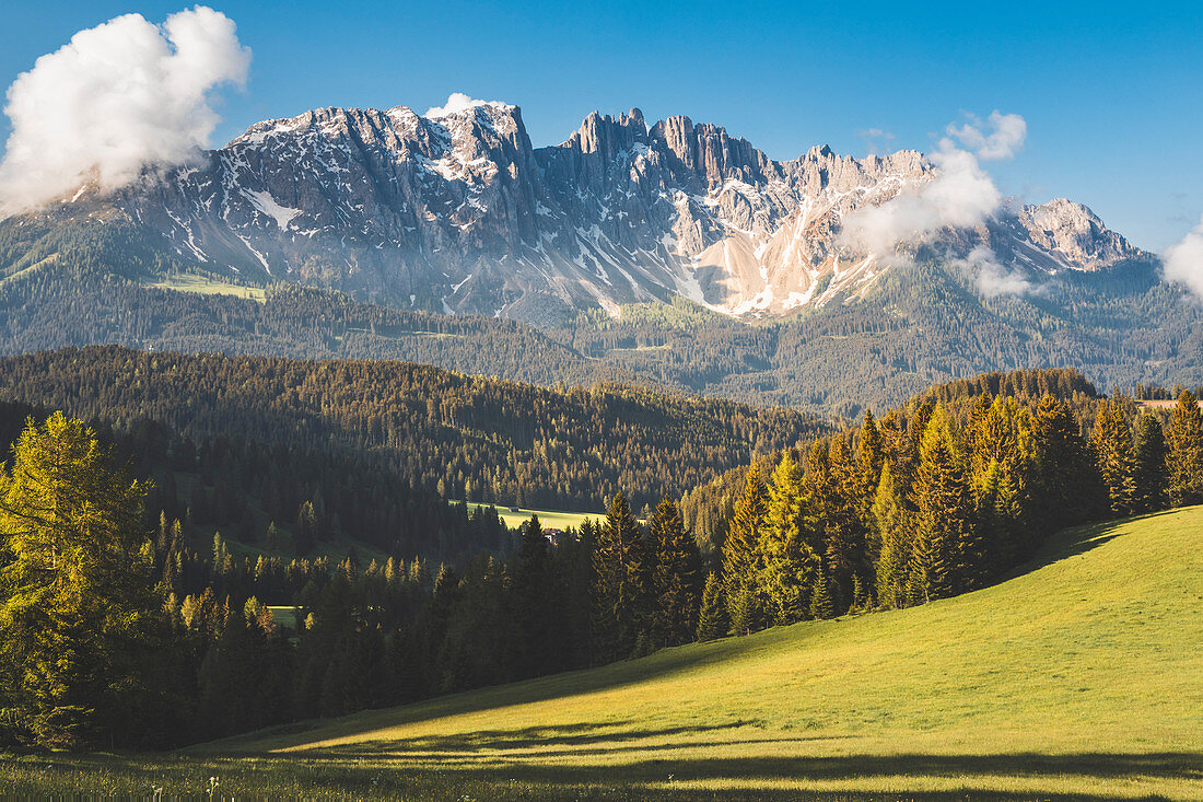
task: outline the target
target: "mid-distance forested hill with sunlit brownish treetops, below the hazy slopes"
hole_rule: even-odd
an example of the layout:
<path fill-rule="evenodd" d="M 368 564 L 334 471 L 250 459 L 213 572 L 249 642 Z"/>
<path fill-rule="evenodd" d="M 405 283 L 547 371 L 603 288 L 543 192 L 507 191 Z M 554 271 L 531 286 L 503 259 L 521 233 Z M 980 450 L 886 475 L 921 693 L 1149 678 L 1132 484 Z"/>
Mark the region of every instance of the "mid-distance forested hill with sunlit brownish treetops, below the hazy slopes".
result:
<path fill-rule="evenodd" d="M 636 509 L 753 454 L 826 431 L 788 409 L 614 384 L 543 389 L 389 361 L 182 355 L 117 347 L 0 359 L 0 400 L 194 440 L 336 450 L 446 499 Z"/>

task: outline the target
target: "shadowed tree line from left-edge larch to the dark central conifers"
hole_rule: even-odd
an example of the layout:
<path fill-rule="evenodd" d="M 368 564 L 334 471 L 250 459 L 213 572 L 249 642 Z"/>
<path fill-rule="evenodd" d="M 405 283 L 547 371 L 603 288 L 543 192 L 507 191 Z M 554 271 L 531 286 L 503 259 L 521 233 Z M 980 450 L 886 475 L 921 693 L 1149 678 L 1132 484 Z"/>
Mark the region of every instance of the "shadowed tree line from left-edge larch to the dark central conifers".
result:
<path fill-rule="evenodd" d="M 552 546 L 461 567 L 186 548 L 79 420 L 30 419 L 0 471 L 0 744 L 150 747 L 413 701 L 693 639 L 700 559 L 671 501 L 622 494 Z M 482 514 L 482 513 L 478 513 Z M 636 561 L 636 564 L 632 561 Z M 272 606 L 268 607 L 267 603 Z"/>

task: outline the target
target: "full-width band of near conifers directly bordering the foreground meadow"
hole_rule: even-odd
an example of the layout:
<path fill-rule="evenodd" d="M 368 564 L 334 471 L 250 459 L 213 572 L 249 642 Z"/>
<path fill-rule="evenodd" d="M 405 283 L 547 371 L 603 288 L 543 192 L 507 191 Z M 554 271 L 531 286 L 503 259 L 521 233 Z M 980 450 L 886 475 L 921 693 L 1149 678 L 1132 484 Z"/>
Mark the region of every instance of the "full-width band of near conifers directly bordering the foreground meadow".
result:
<path fill-rule="evenodd" d="M 88 576 L 88 538 L 108 532 L 112 546 L 97 548 L 112 550 L 132 584 L 109 589 L 99 578 L 54 603 L 99 609 L 115 594 L 118 609 L 141 611 L 129 620 L 149 627 L 137 637 L 155 654 L 113 674 L 129 682 L 97 685 L 89 677 L 96 666 L 112 671 L 109 647 L 65 630 L 61 648 L 82 639 L 82 673 L 60 666 L 61 678 L 51 672 L 60 690 L 42 692 L 26 686 L 28 665 L 45 662 L 51 647 L 14 641 L 0 650 L 10 744 L 214 738 L 694 639 L 921 606 L 996 582 L 1057 529 L 1203 501 L 1203 414 L 1189 391 L 1172 409 L 1143 412 L 1095 395 L 1074 372 L 986 376 L 783 449 L 770 474 L 753 464 L 712 548 L 699 548 L 674 499 L 645 525 L 618 491 L 605 518 L 579 531 L 545 532 L 533 519 L 508 553 L 484 548 L 437 571 L 396 554 L 366 566 L 253 564 L 220 538 L 211 554 L 189 552 L 179 524 L 149 512 L 155 490 L 118 464 L 93 431 L 55 414 L 20 434 L 0 477 L 0 625 L 37 629 L 28 624 L 42 614 L 36 600 L 58 600 L 61 572 Z M 315 509 L 302 502 L 298 526 Z M 498 531 L 496 518 L 468 519 L 462 506 L 446 513 Z M 431 531 L 442 537 L 438 523 Z M 46 565 L 49 573 L 30 567 Z M 166 685 L 138 673 L 148 661 L 159 661 L 155 682 Z M 72 694 L 93 696 L 81 707 Z"/>

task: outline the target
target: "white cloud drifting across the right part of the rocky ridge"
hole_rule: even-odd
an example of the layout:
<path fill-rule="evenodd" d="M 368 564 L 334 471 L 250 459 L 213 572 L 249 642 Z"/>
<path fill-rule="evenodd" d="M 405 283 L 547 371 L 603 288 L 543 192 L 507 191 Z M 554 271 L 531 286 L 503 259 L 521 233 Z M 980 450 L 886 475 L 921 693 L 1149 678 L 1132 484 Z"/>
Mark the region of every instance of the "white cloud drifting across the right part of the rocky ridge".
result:
<path fill-rule="evenodd" d="M 879 206 L 866 206 L 843 219 L 841 243 L 863 253 L 891 256 L 902 243 L 919 243 L 944 228 L 973 228 L 986 220 L 1002 204 L 1002 194 L 971 151 L 952 137 L 974 147 L 982 158 L 1013 154 L 1023 143 L 1026 123 L 1018 114 L 990 114 L 994 130 L 979 126 L 949 126 L 950 137 L 929 158 L 936 177 L 911 187 Z M 955 130 L 955 134 L 952 131 Z"/>

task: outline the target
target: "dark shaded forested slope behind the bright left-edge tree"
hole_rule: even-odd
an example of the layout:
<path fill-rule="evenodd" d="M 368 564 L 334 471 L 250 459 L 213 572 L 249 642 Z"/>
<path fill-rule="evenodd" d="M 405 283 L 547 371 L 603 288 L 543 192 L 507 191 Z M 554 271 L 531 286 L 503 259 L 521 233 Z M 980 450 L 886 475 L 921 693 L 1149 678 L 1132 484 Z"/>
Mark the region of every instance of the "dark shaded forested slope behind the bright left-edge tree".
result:
<path fill-rule="evenodd" d="M 0 402 L 5 459 L 30 417 L 46 412 Z M 185 586 L 203 584 L 213 566 L 229 582 L 302 577 L 289 583 L 295 594 L 310 567 L 325 573 L 331 561 L 421 560 L 434 571 L 444 560 L 464 564 L 510 547 L 496 513 L 469 514 L 354 454 L 224 434 L 194 441 L 148 419 L 90 426 L 117 464 L 146 483 L 142 527 L 155 532 Z"/>

